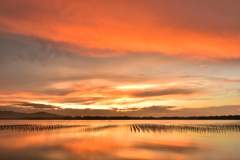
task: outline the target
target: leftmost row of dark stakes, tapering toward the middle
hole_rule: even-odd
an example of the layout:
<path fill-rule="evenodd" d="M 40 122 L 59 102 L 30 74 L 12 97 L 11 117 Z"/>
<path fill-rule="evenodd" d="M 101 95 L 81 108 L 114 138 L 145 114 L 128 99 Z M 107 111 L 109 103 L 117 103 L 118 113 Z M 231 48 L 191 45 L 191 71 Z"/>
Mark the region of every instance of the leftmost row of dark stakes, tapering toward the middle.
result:
<path fill-rule="evenodd" d="M 88 125 L 37 125 L 37 124 L 0 125 L 0 131 L 11 130 L 11 131 L 34 132 L 87 126 Z"/>

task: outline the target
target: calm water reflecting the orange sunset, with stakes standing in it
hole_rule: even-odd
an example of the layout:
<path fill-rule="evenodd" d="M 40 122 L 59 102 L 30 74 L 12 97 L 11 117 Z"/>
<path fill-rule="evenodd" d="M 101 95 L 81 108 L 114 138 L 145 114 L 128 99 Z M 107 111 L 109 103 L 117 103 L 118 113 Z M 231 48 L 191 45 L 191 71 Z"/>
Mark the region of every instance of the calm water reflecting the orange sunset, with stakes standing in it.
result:
<path fill-rule="evenodd" d="M 13 120 L 0 126 L 1 160 L 240 159 L 240 121 Z"/>

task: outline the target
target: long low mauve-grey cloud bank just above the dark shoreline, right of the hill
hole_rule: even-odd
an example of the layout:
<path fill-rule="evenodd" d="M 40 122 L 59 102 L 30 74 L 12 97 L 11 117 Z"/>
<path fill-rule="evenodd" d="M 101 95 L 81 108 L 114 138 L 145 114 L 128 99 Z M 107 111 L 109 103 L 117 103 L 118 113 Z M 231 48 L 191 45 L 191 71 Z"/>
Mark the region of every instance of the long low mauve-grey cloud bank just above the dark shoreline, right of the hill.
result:
<path fill-rule="evenodd" d="M 238 115 L 239 105 L 216 106 L 206 108 L 179 108 L 176 106 L 151 106 L 138 109 L 60 109 L 51 113 L 73 116 L 215 116 Z"/>

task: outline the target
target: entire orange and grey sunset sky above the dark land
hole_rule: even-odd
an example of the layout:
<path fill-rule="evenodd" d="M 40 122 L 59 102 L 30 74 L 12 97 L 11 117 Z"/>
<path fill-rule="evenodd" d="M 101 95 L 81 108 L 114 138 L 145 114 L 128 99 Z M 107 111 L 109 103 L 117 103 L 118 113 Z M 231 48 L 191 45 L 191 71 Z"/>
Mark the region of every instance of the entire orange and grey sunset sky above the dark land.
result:
<path fill-rule="evenodd" d="M 240 114 L 239 0 L 0 3 L 0 110 Z"/>

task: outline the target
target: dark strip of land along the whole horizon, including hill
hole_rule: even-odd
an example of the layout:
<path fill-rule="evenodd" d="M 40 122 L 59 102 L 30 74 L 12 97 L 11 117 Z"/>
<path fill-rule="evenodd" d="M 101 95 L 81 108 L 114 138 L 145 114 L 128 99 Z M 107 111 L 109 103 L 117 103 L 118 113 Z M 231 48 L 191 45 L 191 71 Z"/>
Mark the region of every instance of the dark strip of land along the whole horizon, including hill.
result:
<path fill-rule="evenodd" d="M 18 113 L 0 111 L 0 119 L 4 120 L 240 120 L 240 115 L 224 116 L 191 116 L 191 117 L 128 117 L 128 116 L 61 116 L 46 112 Z"/>

